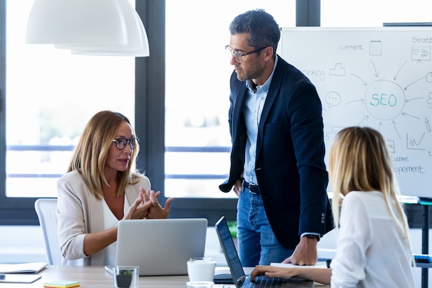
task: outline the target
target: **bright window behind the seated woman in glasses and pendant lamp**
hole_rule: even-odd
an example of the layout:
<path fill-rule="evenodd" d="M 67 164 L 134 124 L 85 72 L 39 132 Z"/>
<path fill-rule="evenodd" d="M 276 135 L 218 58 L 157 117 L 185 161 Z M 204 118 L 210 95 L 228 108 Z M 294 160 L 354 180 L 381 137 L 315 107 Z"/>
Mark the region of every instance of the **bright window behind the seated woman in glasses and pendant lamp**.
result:
<path fill-rule="evenodd" d="M 57 196 L 57 179 L 66 172 L 72 149 L 93 114 L 119 111 L 135 121 L 135 59 L 71 55 L 52 45 L 25 44 L 33 2 L 6 1 L 2 212 L 9 207 L 33 209 L 35 198 Z M 14 221 L 7 219 L 11 214 L 1 215 L 6 215 L 3 221 Z"/>

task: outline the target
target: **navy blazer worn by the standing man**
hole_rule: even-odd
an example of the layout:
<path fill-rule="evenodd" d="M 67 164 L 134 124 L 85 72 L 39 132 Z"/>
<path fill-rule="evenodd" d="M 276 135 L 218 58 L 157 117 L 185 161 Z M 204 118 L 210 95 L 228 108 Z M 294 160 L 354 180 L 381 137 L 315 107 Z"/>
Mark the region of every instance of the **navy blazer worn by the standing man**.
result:
<path fill-rule="evenodd" d="M 233 188 L 244 167 L 246 89 L 234 71 L 228 113 L 230 174 L 219 185 L 224 192 Z M 322 236 L 333 229 L 324 153 L 322 106 L 315 86 L 279 57 L 259 122 L 255 172 L 268 221 L 288 249 L 297 246 L 304 232 Z"/>

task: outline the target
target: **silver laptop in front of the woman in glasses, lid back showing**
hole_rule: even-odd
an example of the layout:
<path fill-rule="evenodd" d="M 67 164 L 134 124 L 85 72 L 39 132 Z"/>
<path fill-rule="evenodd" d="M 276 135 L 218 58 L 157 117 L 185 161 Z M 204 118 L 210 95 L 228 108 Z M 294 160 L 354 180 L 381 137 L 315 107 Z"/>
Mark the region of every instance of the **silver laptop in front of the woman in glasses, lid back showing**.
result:
<path fill-rule="evenodd" d="M 139 266 L 139 276 L 187 275 L 189 258 L 204 257 L 205 218 L 120 220 L 117 227 L 115 265 Z"/>

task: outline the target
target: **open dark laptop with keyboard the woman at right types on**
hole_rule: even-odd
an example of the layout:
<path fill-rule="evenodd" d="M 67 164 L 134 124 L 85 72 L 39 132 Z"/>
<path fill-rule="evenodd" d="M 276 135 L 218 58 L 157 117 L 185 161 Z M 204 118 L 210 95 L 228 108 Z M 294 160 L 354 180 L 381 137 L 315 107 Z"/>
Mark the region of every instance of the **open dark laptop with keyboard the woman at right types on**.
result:
<path fill-rule="evenodd" d="M 224 255 L 226 258 L 226 262 L 228 262 L 228 267 L 231 271 L 231 276 L 233 277 L 233 282 L 235 287 L 237 288 L 261 288 L 261 287 L 293 287 L 293 282 L 302 282 L 297 283 L 295 287 L 313 287 L 312 281 L 305 281 L 302 278 L 291 278 L 290 280 L 282 280 L 278 278 L 266 278 L 265 276 L 255 277 L 254 281 L 251 281 L 250 276 L 246 276 L 244 273 L 244 269 L 242 267 L 242 263 L 240 262 L 239 256 L 237 254 L 237 249 L 235 249 L 235 245 L 233 242 L 233 238 L 231 238 L 230 231 L 228 229 L 228 224 L 224 216 L 220 218 L 215 224 L 217 236 L 219 237 L 219 242 L 222 246 L 222 251 L 224 251 Z M 290 285 L 291 282 L 291 285 Z"/>

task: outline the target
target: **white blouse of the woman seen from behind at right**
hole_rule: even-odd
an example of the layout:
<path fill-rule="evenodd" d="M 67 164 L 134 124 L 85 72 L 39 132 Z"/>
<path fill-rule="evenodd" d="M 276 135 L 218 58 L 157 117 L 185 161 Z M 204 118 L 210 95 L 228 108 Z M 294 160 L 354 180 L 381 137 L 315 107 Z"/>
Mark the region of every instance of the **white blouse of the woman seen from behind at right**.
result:
<path fill-rule="evenodd" d="M 405 217 L 403 223 L 408 227 Z M 409 246 L 382 193 L 348 193 L 342 202 L 336 255 L 331 262 L 331 287 L 415 287 L 411 262 Z"/>

